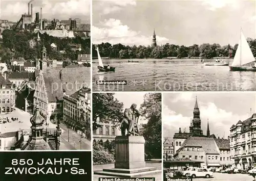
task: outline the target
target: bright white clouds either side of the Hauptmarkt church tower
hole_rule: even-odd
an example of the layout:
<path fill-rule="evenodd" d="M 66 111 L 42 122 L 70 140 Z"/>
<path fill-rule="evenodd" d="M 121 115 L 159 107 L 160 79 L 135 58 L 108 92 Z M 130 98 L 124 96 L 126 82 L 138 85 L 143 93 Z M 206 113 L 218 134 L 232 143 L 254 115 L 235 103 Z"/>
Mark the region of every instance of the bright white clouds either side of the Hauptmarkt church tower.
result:
<path fill-rule="evenodd" d="M 174 133 L 184 129 L 189 132 L 190 119 L 193 118 L 193 110 L 191 116 L 186 117 L 182 114 L 169 110 L 166 105 L 163 106 L 163 133 L 164 137 L 173 137 Z M 237 115 L 232 112 L 227 112 L 223 109 L 217 108 L 213 102 L 208 102 L 206 105 L 200 107 L 201 128 L 203 134 L 206 135 L 207 119 L 209 119 L 210 134 L 225 138 L 230 134 L 229 128 L 232 124 L 236 124 L 239 120 L 244 121 L 248 115 Z"/>

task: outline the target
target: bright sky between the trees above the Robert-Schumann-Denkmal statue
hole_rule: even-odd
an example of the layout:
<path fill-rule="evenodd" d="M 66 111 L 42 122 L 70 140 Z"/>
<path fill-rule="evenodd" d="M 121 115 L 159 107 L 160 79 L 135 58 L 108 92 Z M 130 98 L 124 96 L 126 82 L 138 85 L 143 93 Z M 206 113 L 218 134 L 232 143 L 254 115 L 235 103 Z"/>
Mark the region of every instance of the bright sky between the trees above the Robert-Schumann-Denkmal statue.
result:
<path fill-rule="evenodd" d="M 114 97 L 120 102 L 123 102 L 124 109 L 130 108 L 132 104 L 136 104 L 137 109 L 139 109 L 140 105 L 144 102 L 144 95 L 145 92 L 115 92 Z M 139 124 L 146 123 L 147 120 L 144 120 L 142 117 L 140 117 Z"/>

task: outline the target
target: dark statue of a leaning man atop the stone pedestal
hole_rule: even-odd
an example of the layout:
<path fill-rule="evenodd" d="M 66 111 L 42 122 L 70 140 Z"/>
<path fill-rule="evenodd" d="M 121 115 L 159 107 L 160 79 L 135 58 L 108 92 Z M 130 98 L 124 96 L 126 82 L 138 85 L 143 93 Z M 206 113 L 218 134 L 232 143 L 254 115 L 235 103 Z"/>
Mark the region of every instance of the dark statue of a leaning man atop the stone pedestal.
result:
<path fill-rule="evenodd" d="M 137 123 L 137 118 L 141 115 L 141 113 L 136 109 L 137 105 L 132 104 L 132 106 L 128 109 L 124 110 L 123 120 L 121 122 L 121 134 L 125 136 L 125 131 L 127 130 L 127 136 L 132 135 L 132 130 L 134 127 L 134 123 Z M 137 126 L 138 129 L 138 126 Z M 139 130 L 137 130 L 139 132 Z"/>

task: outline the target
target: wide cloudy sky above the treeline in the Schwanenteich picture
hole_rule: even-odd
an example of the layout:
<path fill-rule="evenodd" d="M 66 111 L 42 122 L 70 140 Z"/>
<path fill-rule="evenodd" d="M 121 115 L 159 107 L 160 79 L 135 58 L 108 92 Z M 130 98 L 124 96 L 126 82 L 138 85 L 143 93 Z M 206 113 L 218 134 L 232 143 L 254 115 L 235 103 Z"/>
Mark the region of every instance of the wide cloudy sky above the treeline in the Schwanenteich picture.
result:
<path fill-rule="evenodd" d="M 255 0 L 93 0 L 92 42 L 190 46 L 255 38 Z"/>

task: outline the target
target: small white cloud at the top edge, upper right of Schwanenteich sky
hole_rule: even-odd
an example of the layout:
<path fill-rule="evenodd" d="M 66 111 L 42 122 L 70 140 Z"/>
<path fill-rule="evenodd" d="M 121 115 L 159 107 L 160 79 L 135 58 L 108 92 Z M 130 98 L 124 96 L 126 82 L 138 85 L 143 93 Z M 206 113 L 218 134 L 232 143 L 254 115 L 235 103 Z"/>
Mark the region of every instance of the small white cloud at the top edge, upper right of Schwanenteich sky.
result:
<path fill-rule="evenodd" d="M 208 6 L 209 10 L 215 11 L 220 8 L 237 8 L 239 0 L 204 0 L 203 4 Z"/>

